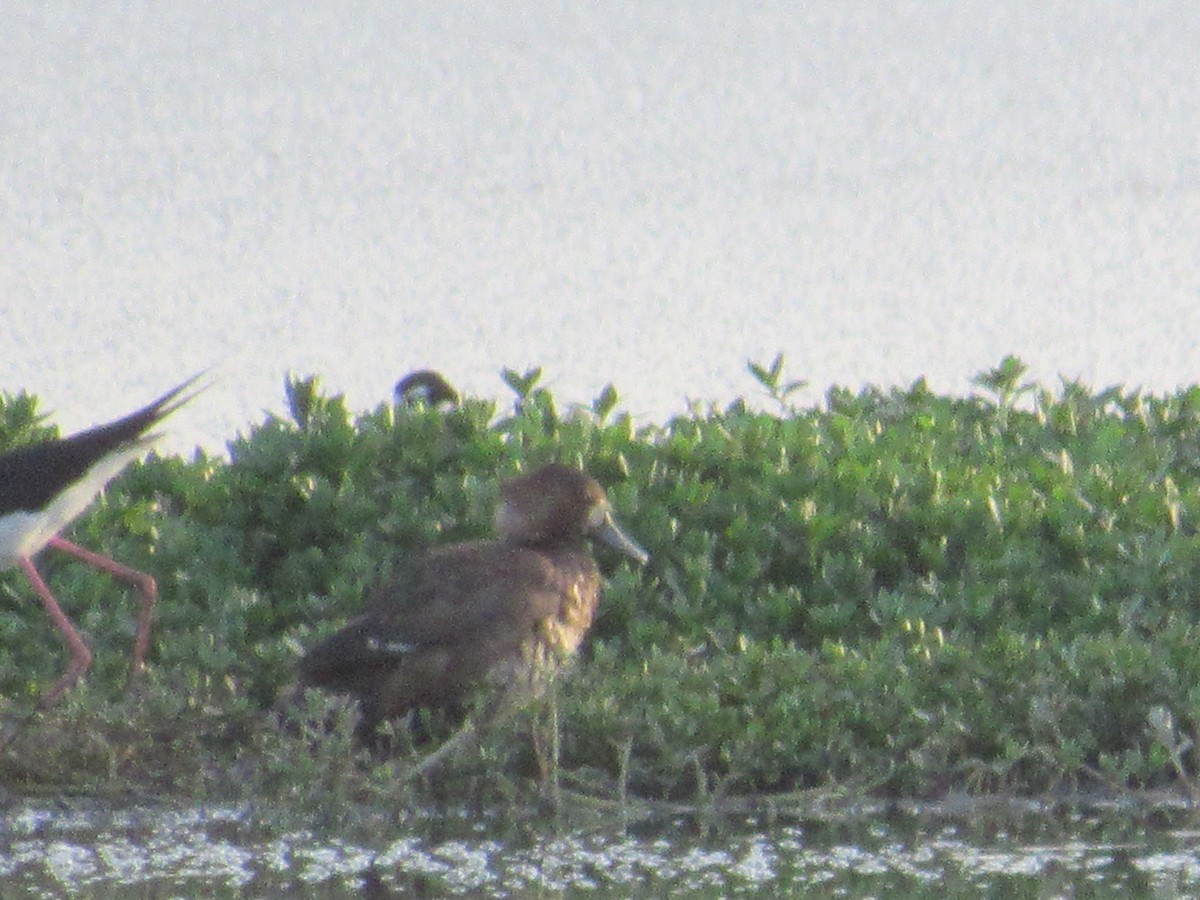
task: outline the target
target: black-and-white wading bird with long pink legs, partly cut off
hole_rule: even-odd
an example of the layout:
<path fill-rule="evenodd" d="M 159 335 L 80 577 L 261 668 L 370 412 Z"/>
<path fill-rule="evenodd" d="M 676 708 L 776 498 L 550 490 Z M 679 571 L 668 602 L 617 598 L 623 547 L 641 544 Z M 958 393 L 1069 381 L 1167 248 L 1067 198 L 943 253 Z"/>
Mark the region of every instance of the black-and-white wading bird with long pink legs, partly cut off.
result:
<path fill-rule="evenodd" d="M 150 623 L 157 596 L 155 580 L 59 535 L 95 499 L 118 473 L 160 437 L 150 428 L 192 398 L 180 395 L 199 376 L 163 394 L 154 403 L 68 438 L 44 440 L 0 454 L 0 569 L 19 565 L 71 650 L 71 665 L 42 698 L 52 706 L 91 665 L 91 650 L 54 599 L 32 557 L 42 547 L 56 547 L 127 581 L 142 594 L 142 611 L 133 646 L 131 678 L 145 666 Z"/>

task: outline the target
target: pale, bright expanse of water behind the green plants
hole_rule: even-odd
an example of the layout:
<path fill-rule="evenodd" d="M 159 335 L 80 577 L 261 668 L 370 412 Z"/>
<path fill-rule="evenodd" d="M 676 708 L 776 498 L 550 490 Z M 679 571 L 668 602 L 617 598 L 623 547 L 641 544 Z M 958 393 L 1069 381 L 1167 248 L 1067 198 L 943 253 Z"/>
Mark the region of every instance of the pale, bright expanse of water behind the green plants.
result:
<path fill-rule="evenodd" d="M 318 373 L 661 420 L 834 383 L 1200 371 L 1190 0 L 0 8 L 0 388 L 172 446 Z"/>

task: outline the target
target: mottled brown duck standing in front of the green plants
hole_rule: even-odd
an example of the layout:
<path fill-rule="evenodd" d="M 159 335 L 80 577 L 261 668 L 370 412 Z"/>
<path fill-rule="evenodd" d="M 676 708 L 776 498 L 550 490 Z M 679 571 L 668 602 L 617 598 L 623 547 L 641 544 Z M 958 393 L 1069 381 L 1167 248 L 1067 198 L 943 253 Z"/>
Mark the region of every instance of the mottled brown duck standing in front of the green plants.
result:
<path fill-rule="evenodd" d="M 644 563 L 604 490 L 550 464 L 500 486 L 496 540 L 432 550 L 404 564 L 365 612 L 300 661 L 302 686 L 358 698 L 360 738 L 415 708 L 460 715 L 474 689 L 535 690 L 571 655 L 600 601 L 586 539 Z"/>

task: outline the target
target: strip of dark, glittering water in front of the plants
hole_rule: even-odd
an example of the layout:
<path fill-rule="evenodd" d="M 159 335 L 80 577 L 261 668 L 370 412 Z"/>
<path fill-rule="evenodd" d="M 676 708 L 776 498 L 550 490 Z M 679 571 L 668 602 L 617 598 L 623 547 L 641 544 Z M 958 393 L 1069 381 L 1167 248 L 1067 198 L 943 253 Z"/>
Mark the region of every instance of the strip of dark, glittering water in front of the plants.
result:
<path fill-rule="evenodd" d="M 263 830 L 233 808 L 29 805 L 0 818 L 0 895 L 1192 896 L 1183 809 L 977 805 L 842 821 L 668 820 L 536 834 L 442 818 L 355 840 Z M 517 832 L 514 835 L 514 832 Z"/>

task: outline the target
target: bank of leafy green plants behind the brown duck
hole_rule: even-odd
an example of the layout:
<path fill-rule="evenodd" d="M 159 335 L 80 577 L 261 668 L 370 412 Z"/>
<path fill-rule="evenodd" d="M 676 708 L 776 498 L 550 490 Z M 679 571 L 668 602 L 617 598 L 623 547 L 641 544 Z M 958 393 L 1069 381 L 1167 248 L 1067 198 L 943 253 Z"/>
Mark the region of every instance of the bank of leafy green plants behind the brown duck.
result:
<path fill-rule="evenodd" d="M 372 766 L 337 702 L 310 696 L 300 733 L 268 710 L 389 559 L 486 534 L 497 481 L 560 460 L 607 486 L 652 554 L 638 570 L 598 550 L 601 614 L 556 692 L 563 788 L 714 806 L 847 787 L 1196 792 L 1200 388 L 1050 391 L 1006 359 L 979 396 L 917 382 L 800 408 L 781 359 L 751 372 L 772 412 L 644 427 L 611 388 L 559 410 L 536 371 L 505 373 L 511 414 L 467 398 L 355 415 L 298 379 L 288 415 L 229 461 L 132 467 L 71 534 L 157 576 L 151 671 L 126 697 L 125 588 L 42 554 L 96 664 L 0 754 L 0 780 L 395 806 L 428 746 Z M 2 446 L 47 433 L 25 396 L 4 398 L 0 428 Z M 64 664 L 24 578 L 0 576 L 2 716 Z M 403 790 L 515 796 L 547 721 L 536 704 Z"/>

